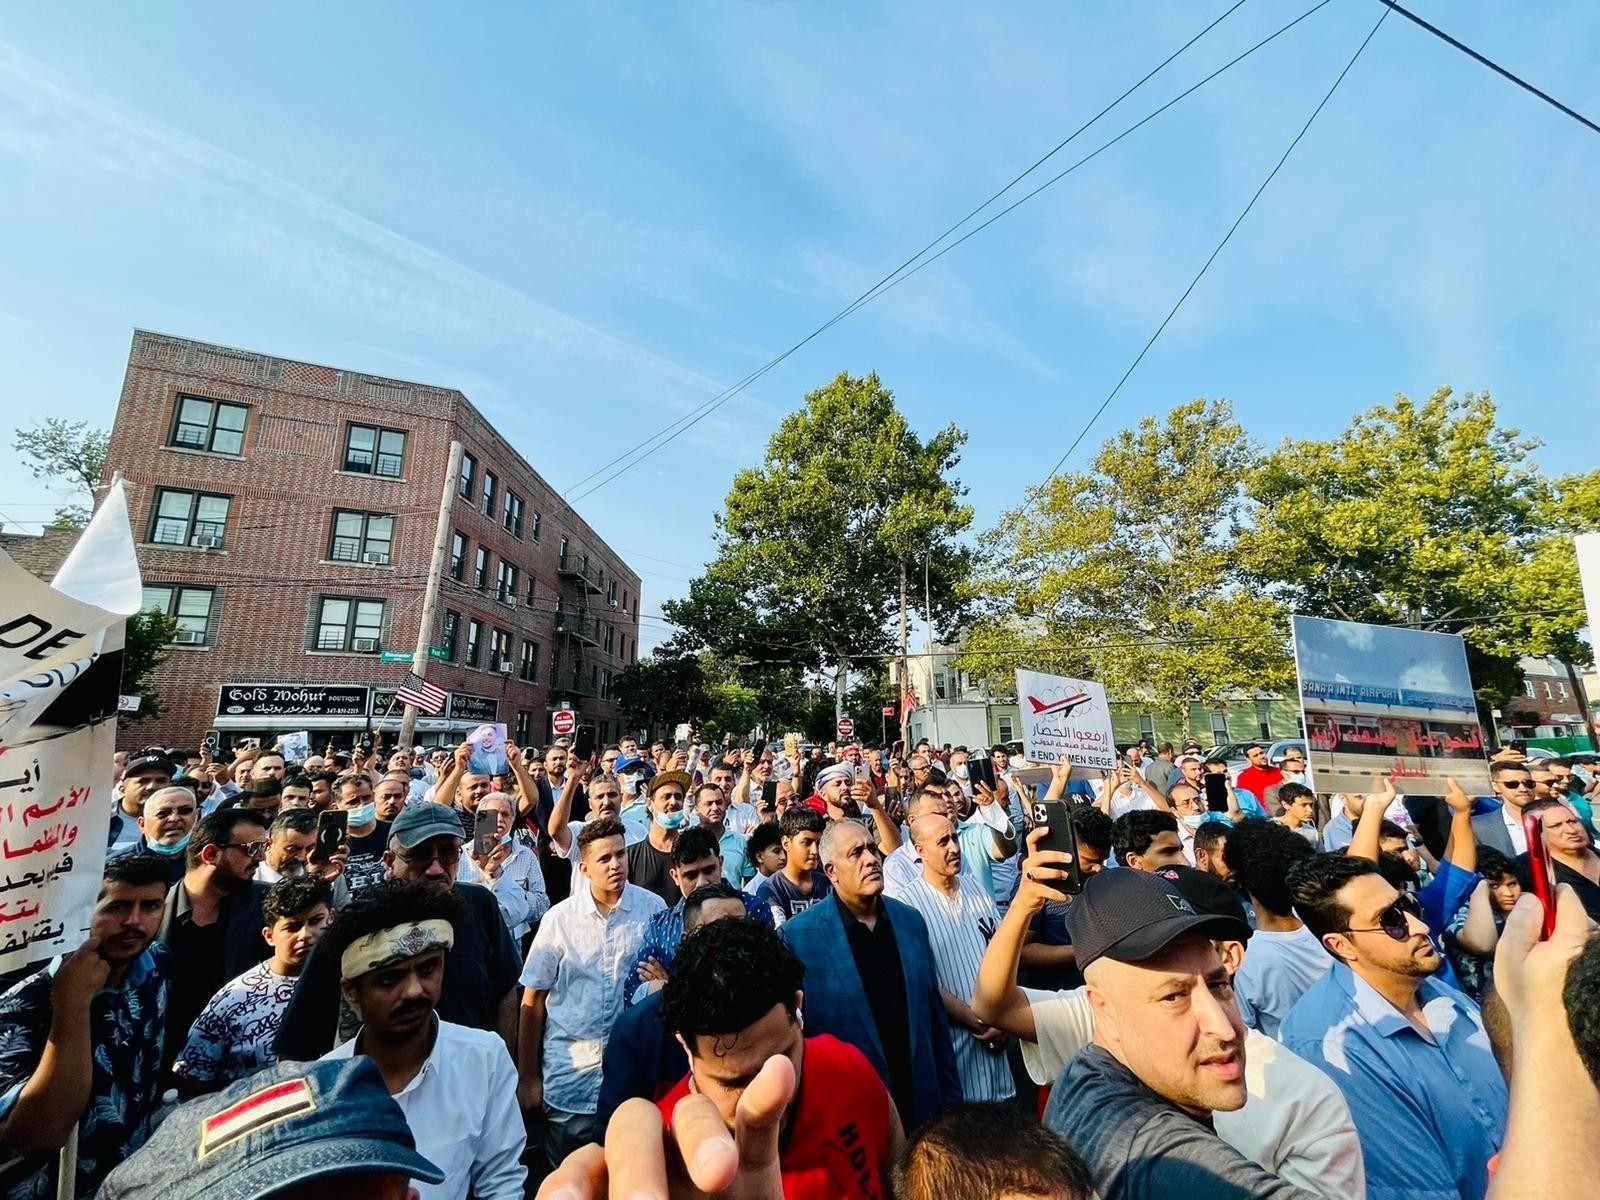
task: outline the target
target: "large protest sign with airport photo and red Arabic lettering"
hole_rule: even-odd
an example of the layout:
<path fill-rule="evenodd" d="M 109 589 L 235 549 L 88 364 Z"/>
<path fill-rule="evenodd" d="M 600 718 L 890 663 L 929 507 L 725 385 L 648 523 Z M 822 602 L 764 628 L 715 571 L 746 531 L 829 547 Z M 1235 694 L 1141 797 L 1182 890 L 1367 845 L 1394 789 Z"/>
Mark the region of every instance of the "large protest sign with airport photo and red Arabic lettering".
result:
<path fill-rule="evenodd" d="M 1318 792 L 1486 795 L 1490 770 L 1467 646 L 1458 634 L 1296 616 L 1307 766 Z"/>

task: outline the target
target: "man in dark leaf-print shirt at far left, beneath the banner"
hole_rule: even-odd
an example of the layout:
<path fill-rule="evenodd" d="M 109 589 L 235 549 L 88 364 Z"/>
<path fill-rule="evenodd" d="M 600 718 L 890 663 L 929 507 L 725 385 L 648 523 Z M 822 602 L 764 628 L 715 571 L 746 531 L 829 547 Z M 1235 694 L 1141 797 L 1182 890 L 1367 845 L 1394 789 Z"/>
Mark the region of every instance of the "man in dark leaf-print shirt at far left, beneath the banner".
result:
<path fill-rule="evenodd" d="M 0 1146 L 22 1155 L 8 1195 L 58 1195 L 58 1150 L 74 1126 L 67 1194 L 77 1197 L 93 1195 L 150 1134 L 171 978 L 166 949 L 154 944 L 165 894 L 162 859 L 110 859 L 85 942 L 0 997 Z"/>

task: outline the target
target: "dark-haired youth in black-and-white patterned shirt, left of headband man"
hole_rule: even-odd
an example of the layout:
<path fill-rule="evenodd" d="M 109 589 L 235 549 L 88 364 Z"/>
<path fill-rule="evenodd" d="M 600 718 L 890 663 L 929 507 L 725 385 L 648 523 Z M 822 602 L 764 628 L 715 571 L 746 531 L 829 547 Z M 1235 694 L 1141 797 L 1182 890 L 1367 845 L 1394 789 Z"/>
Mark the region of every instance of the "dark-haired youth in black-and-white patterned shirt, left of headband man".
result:
<path fill-rule="evenodd" d="M 294 982 L 333 917 L 333 888 L 326 880 L 298 878 L 274 883 L 261 901 L 261 934 L 272 957 L 222 986 L 189 1030 L 189 1042 L 173 1064 L 184 1099 L 216 1091 L 278 1061 L 272 1040 L 294 995 Z"/>

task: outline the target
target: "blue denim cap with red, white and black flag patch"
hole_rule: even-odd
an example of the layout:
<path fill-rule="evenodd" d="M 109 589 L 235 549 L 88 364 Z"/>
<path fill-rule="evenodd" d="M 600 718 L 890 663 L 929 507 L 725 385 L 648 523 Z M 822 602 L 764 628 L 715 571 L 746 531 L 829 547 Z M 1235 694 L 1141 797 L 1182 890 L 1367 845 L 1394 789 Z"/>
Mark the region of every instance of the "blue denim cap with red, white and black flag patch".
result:
<path fill-rule="evenodd" d="M 405 1114 L 370 1058 L 283 1062 L 173 1109 L 101 1184 L 104 1200 L 264 1200 L 357 1173 L 429 1184 Z"/>

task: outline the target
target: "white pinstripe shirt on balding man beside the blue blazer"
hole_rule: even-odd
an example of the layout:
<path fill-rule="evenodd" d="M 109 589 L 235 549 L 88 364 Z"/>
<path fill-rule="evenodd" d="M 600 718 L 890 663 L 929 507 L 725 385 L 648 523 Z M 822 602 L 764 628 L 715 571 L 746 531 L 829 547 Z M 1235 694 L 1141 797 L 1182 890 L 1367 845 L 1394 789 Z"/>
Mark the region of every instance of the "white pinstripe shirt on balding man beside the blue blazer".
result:
<path fill-rule="evenodd" d="M 904 890 L 896 890 L 894 899 L 910 904 L 928 923 L 928 946 L 939 987 L 971 1003 L 978 987 L 978 966 L 989 949 L 989 939 L 1000 926 L 1000 910 L 989 890 L 971 875 L 957 875 L 955 882 L 957 893 L 950 896 L 918 875 Z M 950 1042 L 955 1045 L 955 1069 L 968 1101 L 994 1104 L 1016 1094 L 1003 1053 L 984 1050 L 978 1038 L 957 1024 L 950 1026 Z"/>

